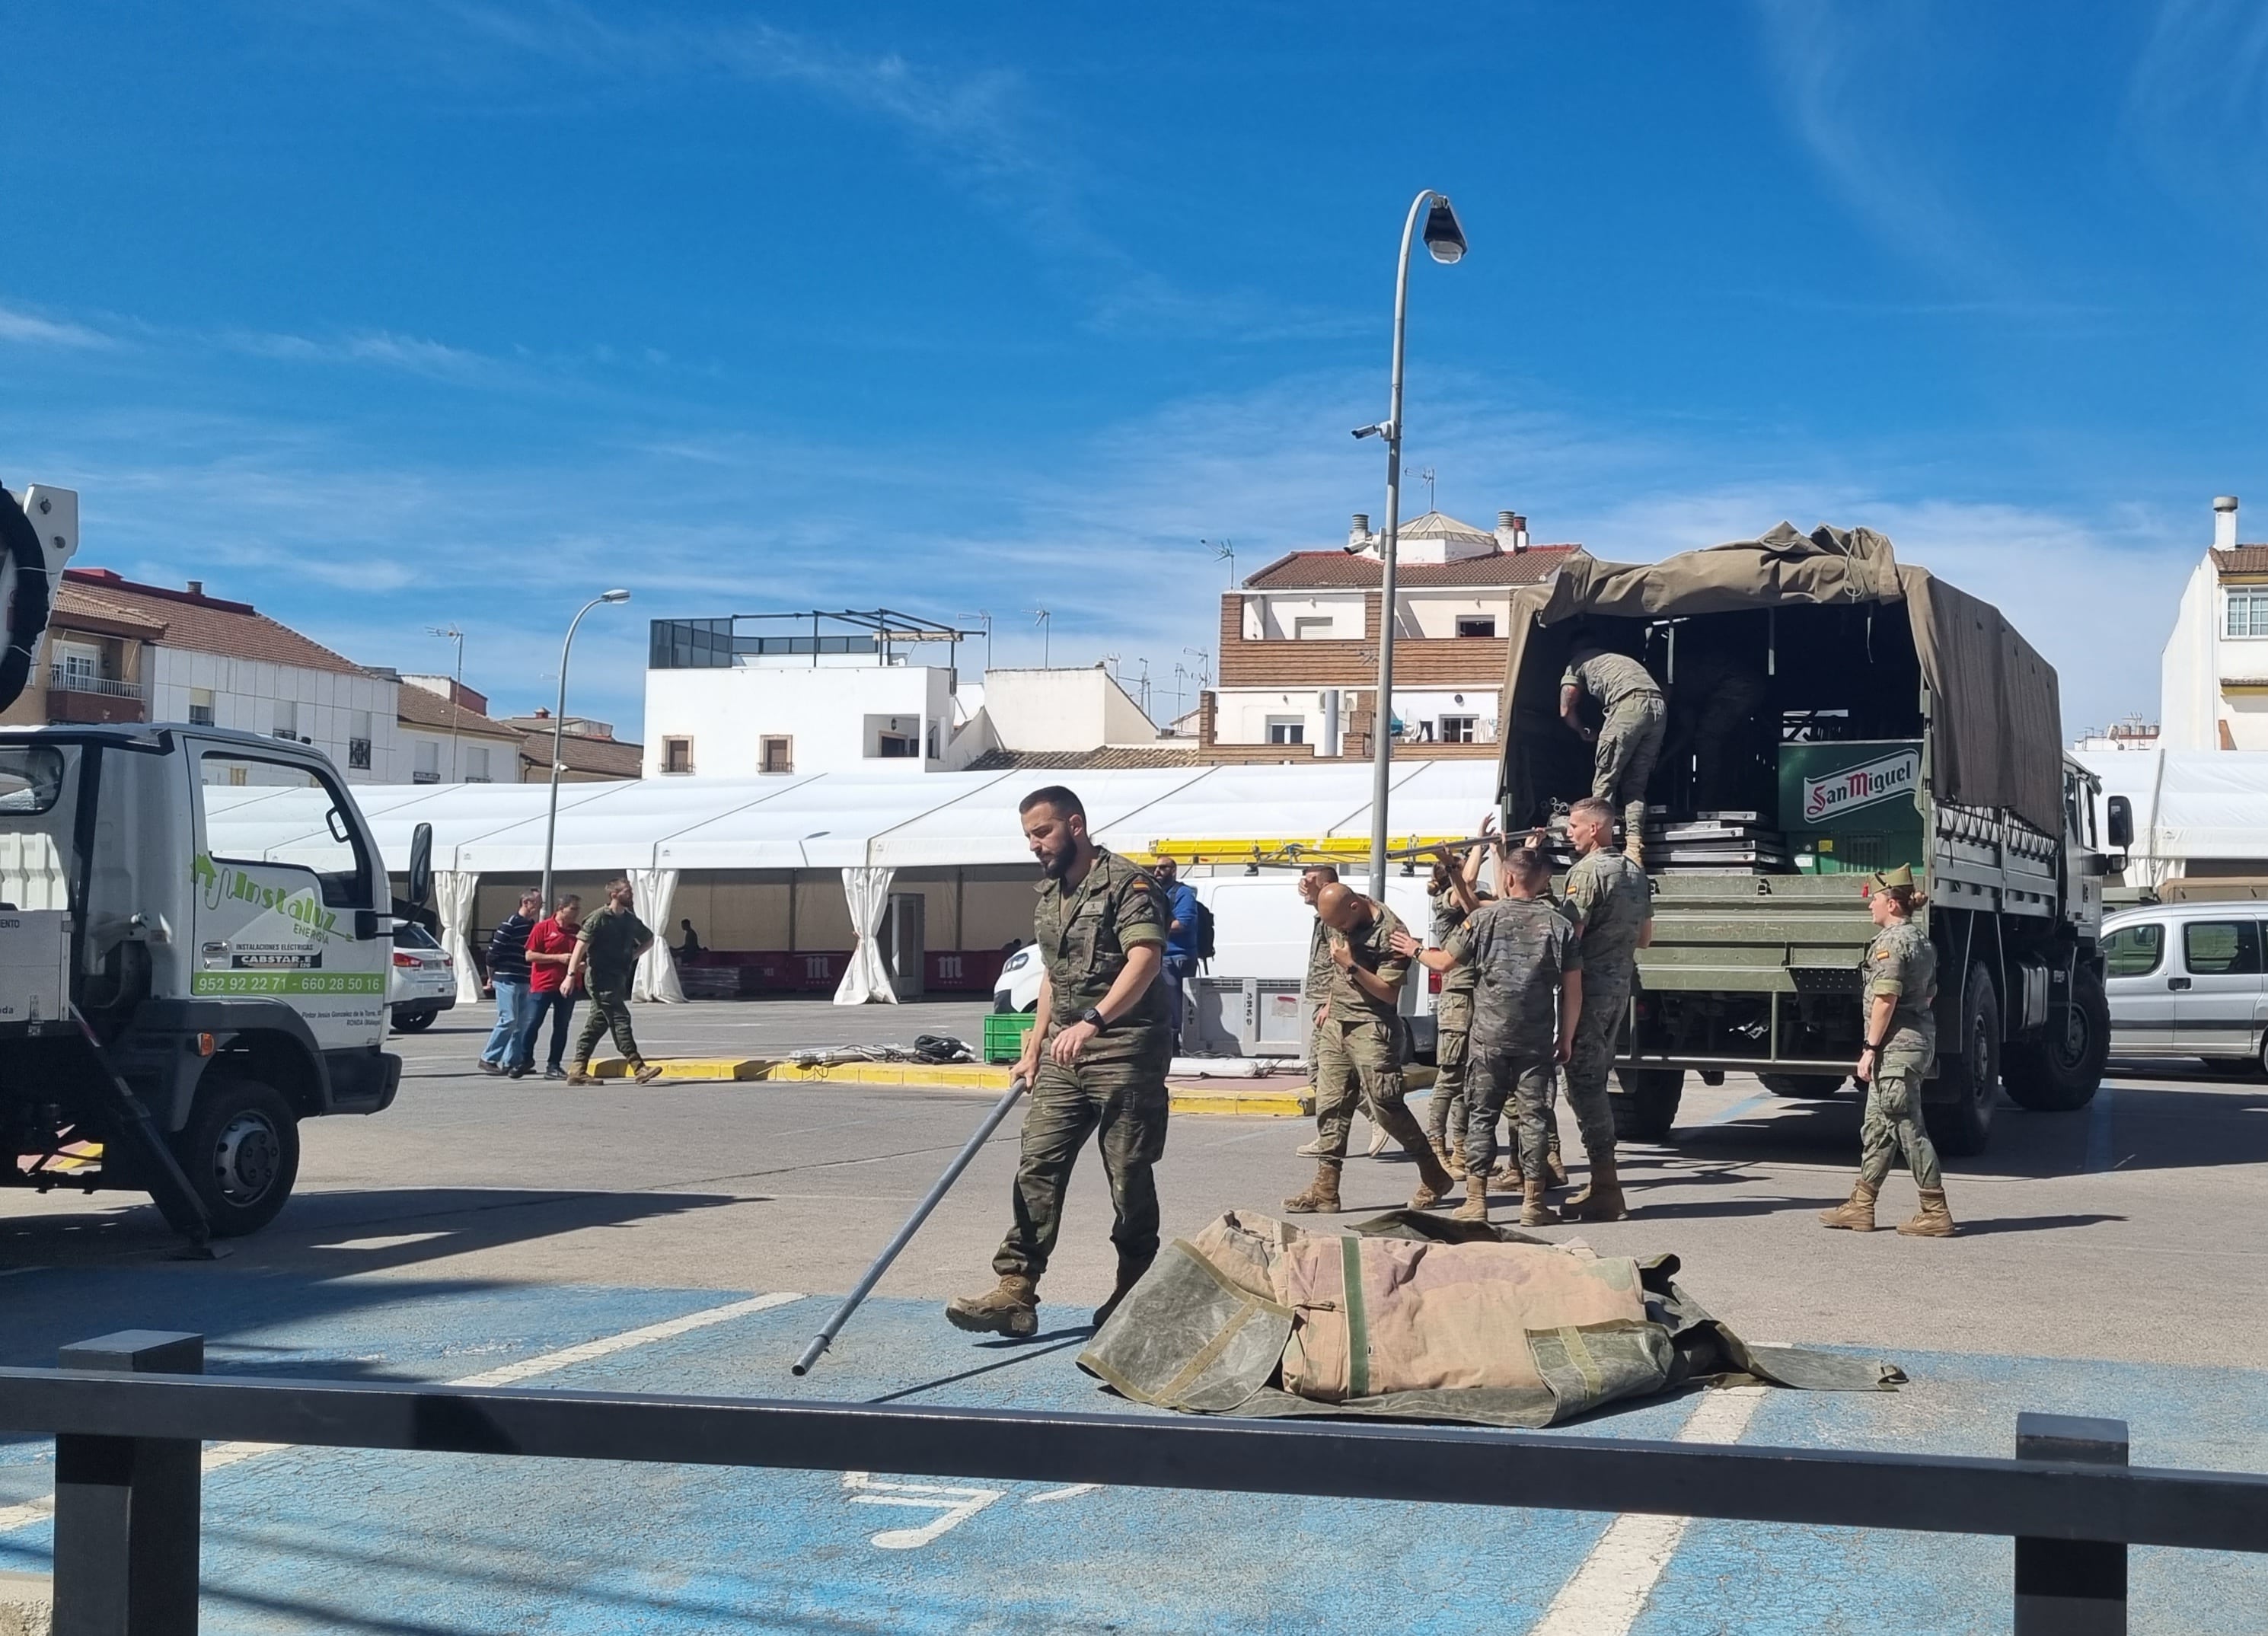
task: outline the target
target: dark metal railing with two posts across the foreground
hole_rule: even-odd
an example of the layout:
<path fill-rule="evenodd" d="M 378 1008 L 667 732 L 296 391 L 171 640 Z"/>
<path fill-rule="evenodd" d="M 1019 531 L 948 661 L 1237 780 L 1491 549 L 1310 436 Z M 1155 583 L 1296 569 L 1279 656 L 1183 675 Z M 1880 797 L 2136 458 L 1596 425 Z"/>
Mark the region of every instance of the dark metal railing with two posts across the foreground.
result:
<path fill-rule="evenodd" d="M 127 1330 L 0 1368 L 54 1434 L 57 1636 L 197 1627 L 200 1443 L 889 1470 L 1136 1489 L 1887 1527 L 2016 1541 L 2014 1629 L 2123 1631 L 2127 1545 L 2268 1552 L 2268 1477 L 2127 1466 L 2123 1420 L 2016 1416 L 2016 1459 L 1431 1425 L 206 1377 Z"/>

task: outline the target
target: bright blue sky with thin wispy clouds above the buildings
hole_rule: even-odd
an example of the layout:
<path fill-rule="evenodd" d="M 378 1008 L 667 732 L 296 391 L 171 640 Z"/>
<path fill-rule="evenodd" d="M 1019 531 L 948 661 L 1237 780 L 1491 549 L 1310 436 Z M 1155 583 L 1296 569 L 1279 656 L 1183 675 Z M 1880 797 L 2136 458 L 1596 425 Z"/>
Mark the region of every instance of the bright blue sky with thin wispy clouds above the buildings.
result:
<path fill-rule="evenodd" d="M 2259 492 L 2268 14 L 18 0 L 0 481 L 82 560 L 499 710 L 640 722 L 655 615 L 996 615 L 1170 710 L 1381 511 L 1649 558 L 1869 524 L 2155 715 Z M 1415 506 L 1422 508 L 1417 488 Z M 2268 538 L 2268 522 L 2245 529 Z"/>

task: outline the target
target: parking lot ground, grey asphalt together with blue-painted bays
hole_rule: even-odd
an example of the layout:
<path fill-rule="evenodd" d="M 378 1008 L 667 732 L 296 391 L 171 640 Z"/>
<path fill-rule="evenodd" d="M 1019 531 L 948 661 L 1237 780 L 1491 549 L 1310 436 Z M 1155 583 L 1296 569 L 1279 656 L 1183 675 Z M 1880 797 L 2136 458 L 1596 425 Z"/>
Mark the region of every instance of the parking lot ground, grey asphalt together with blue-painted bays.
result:
<path fill-rule="evenodd" d="M 640 1007 L 637 1028 L 651 1055 L 785 1055 L 916 1032 L 973 1042 L 982 1005 Z M 154 1212 L 122 1196 L 7 1196 L 0 1359 L 186 1327 L 211 1339 L 213 1371 L 467 1380 L 538 1359 L 528 1384 L 1123 1407 L 1070 1366 L 1111 1271 L 1091 1162 L 1041 1291 L 1041 1343 L 1002 1348 L 937 1316 L 943 1296 L 989 1284 L 1014 1123 L 841 1350 L 807 1382 L 787 1375 L 826 1296 L 857 1277 L 989 1094 L 508 1082 L 474 1071 L 481 1037 L 474 1017 L 397 1037 L 397 1105 L 304 1125 L 299 1196 L 225 1262 L 170 1259 Z M 1270 1209 L 1311 1173 L 1293 1153 L 1309 1132 L 1177 1119 L 1159 1171 L 1168 1234 Z M 2116 1078 L 2077 1114 L 2003 1103 L 1991 1148 L 1948 1164 L 1964 1228 L 1948 1243 L 1814 1225 L 1844 1196 L 1855 1144 L 1851 1096 L 1687 1080 L 1674 1141 L 1626 1153 L 1637 1214 L 1583 1230 L 1603 1253 L 1676 1253 L 1681 1282 L 1751 1341 L 1857 1348 L 1912 1375 L 1880 1395 L 1769 1393 L 1737 1436 L 2007 1452 L 2016 1411 L 2048 1409 L 2127 1418 L 2136 1464 L 2268 1470 L 2268 1373 L 2241 1293 L 2268 1271 L 2268 1085 L 2168 1066 Z M 1349 1159 L 1349 1218 L 1411 1184 L 1397 1157 Z M 1910 1207 L 1894 1175 L 1882 1214 Z M 590 1357 L 592 1341 L 655 1325 L 667 1334 Z M 1672 1434 L 1694 1414 L 1676 1398 L 1569 1434 Z M 41 1443 L 0 1445 L 0 1568 L 45 1559 L 45 1459 Z M 939 1502 L 887 1473 L 311 1450 L 213 1470 L 206 1516 L 206 1631 L 1331 1631 L 1476 1616 L 1547 1631 L 2005 1629 L 2009 1584 L 1994 1541 L 1694 1523 L 1658 1552 L 1628 1618 L 1597 1625 L 1560 1604 L 1619 1559 L 1610 1523 L 1579 1513 L 1014 1484 Z M 1322 1541 L 1329 1570 L 1304 1570 Z M 2136 1552 L 2134 1586 L 2139 1631 L 2261 1629 L 2268 1607 L 2261 1559 Z"/>

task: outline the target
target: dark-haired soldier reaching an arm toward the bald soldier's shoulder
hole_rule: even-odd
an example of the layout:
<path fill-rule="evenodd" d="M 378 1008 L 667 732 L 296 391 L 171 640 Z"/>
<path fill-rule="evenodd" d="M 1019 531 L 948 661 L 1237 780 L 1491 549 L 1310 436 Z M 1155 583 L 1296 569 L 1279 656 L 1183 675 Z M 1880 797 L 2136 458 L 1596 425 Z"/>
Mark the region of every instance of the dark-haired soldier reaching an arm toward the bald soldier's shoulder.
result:
<path fill-rule="evenodd" d="M 1472 971 L 1472 1076 L 1465 1116 L 1465 1205 L 1458 1221 L 1488 1221 L 1488 1164 L 1497 1155 L 1497 1119 L 1517 1096 L 1522 1189 L 1520 1225 L 1558 1223 L 1545 1207 L 1545 1121 L 1551 1116 L 1551 1071 L 1565 1062 L 1583 1014 L 1581 935 L 1545 896 L 1551 865 L 1517 849 L 1504 860 L 1504 892 L 1458 926 L 1447 946 L 1395 946 L 1433 971 Z"/>

